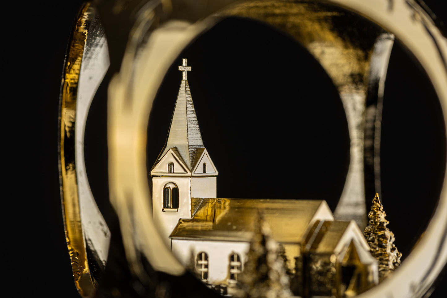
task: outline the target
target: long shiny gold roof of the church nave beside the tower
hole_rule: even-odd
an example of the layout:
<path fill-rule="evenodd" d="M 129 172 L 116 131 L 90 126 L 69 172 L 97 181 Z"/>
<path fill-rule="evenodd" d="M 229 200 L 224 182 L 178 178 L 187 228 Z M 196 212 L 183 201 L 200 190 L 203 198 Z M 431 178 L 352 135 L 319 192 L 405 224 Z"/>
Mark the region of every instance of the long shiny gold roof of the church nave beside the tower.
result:
<path fill-rule="evenodd" d="M 315 221 L 333 221 L 324 200 L 193 198 L 192 219 L 180 219 L 170 238 L 250 241 L 258 211 L 281 243 L 301 243 Z"/>

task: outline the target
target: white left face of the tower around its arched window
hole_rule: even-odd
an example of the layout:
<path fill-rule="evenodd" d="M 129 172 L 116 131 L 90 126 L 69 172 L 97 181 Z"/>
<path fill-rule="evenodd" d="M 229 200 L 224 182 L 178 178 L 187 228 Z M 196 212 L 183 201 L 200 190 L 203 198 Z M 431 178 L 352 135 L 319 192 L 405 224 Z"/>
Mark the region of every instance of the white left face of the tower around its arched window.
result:
<path fill-rule="evenodd" d="M 165 209 L 163 212 L 163 188 L 167 183 L 174 183 L 178 187 L 177 209 Z M 153 177 L 152 178 L 152 213 L 154 221 L 164 242 L 169 247 L 169 235 L 177 226 L 180 218 L 191 218 L 191 197 L 189 177 Z"/>

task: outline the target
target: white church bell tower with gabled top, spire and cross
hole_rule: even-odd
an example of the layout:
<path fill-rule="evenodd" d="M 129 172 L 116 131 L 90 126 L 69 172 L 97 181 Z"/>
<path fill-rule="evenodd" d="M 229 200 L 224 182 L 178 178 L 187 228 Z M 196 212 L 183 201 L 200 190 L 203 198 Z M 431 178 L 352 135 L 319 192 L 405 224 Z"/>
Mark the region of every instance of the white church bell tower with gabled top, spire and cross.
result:
<path fill-rule="evenodd" d="M 205 149 L 191 98 L 187 59 L 168 138 L 152 166 L 152 209 L 166 244 L 180 218 L 191 218 L 191 198 L 215 198 L 218 172 Z"/>

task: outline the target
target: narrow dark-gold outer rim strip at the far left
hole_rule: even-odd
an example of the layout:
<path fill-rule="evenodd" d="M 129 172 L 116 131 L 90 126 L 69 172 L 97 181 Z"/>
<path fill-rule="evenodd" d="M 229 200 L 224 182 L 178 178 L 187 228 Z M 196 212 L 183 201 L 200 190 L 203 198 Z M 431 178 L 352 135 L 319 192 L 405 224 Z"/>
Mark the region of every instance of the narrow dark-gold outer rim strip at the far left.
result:
<path fill-rule="evenodd" d="M 80 219 L 74 148 L 76 95 L 81 61 L 92 13 L 93 8 L 90 6 L 90 3 L 84 4 L 73 26 L 65 58 L 59 109 L 59 180 L 65 238 L 72 262 L 75 285 L 79 293 L 84 297 L 94 293 L 95 281 L 91 277 L 89 270 L 86 244 Z"/>

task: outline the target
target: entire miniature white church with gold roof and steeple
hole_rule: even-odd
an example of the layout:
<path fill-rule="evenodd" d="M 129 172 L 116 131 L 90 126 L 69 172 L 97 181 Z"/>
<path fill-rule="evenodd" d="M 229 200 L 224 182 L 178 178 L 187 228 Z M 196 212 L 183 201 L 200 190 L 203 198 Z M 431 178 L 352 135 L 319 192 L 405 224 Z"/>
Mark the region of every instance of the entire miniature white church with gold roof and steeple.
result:
<path fill-rule="evenodd" d="M 216 198 L 218 171 L 203 145 L 183 59 L 168 138 L 151 170 L 153 218 L 166 245 L 208 285 L 237 282 L 259 213 L 283 246 L 302 297 L 348 297 L 378 283 L 377 260 L 354 221 L 325 200 Z"/>

